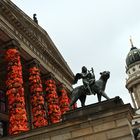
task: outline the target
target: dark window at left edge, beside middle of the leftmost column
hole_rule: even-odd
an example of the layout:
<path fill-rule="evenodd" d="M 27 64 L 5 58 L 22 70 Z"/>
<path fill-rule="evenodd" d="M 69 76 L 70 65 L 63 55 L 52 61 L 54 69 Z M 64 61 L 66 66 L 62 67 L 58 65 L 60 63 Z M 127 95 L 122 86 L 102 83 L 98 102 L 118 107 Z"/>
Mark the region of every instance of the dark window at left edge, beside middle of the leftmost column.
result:
<path fill-rule="evenodd" d="M 6 98 L 5 93 L 0 90 L 0 112 L 6 112 Z"/>

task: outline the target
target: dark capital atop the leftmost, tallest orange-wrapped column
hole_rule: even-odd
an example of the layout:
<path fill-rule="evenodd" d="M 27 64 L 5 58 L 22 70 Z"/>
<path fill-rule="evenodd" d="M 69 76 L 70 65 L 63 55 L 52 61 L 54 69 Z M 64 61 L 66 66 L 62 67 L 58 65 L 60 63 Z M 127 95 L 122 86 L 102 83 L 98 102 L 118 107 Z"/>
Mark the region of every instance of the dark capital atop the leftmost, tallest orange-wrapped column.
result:
<path fill-rule="evenodd" d="M 18 41 L 14 39 L 11 39 L 3 44 L 4 49 L 15 48 L 19 50 L 19 47 L 20 47 L 20 44 L 18 43 Z"/>

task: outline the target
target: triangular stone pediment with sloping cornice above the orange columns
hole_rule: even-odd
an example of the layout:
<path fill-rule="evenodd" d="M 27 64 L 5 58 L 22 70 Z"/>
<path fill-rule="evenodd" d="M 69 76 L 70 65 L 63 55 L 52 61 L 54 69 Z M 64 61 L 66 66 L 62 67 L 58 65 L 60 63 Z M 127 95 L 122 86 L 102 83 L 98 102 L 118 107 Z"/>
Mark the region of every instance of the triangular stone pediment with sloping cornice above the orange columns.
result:
<path fill-rule="evenodd" d="M 71 69 L 43 28 L 9 0 L 0 1 L 0 22 L 3 19 L 4 24 L 6 23 L 13 30 L 10 32 L 14 32 L 16 37 L 22 38 L 23 42 L 30 45 L 36 54 L 41 54 L 41 59 L 46 57 L 53 69 L 62 73 L 64 79 L 72 83 Z"/>

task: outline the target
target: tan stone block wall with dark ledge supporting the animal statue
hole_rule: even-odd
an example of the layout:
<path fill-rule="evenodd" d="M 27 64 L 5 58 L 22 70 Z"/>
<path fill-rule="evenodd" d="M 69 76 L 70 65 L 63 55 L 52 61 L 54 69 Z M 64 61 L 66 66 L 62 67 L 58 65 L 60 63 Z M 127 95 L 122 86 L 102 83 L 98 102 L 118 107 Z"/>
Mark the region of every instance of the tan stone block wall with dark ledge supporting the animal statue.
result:
<path fill-rule="evenodd" d="M 2 140 L 133 140 L 133 109 L 117 97 L 69 111 L 62 122 Z"/>

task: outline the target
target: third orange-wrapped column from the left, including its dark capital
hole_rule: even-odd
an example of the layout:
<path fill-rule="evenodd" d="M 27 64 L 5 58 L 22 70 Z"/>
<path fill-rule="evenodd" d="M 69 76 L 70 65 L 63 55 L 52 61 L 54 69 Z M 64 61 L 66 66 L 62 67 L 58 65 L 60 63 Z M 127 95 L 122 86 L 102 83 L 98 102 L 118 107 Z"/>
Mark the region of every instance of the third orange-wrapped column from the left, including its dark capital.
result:
<path fill-rule="evenodd" d="M 45 100 L 47 102 L 49 121 L 50 123 L 60 122 L 61 111 L 56 91 L 56 83 L 55 78 L 51 73 L 45 76 L 45 88 Z"/>

